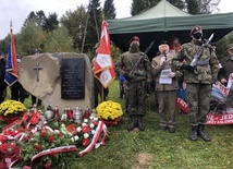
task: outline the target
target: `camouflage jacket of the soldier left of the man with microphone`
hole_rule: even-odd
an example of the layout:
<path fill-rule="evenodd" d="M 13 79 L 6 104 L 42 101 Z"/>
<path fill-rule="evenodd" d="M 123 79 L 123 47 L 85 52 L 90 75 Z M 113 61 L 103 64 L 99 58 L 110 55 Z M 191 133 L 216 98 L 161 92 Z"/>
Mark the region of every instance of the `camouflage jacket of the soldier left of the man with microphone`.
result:
<path fill-rule="evenodd" d="M 139 62 L 138 62 L 139 60 Z M 137 67 L 136 63 L 138 62 Z M 134 72 L 132 70 L 135 70 Z M 131 74 L 135 77 L 135 81 L 150 82 L 150 61 L 145 52 L 126 51 L 120 56 L 119 61 L 115 64 L 115 71 L 119 74 Z M 137 73 L 139 72 L 139 73 Z"/>

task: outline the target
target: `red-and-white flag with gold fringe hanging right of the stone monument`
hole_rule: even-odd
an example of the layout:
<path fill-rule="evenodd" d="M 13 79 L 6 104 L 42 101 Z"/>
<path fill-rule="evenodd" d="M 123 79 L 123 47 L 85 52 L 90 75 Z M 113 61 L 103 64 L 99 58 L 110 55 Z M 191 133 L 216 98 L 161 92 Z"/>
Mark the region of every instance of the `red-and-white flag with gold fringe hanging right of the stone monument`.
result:
<path fill-rule="evenodd" d="M 105 88 L 115 79 L 114 65 L 110 52 L 108 23 L 102 22 L 100 45 L 94 65 L 94 74 Z"/>

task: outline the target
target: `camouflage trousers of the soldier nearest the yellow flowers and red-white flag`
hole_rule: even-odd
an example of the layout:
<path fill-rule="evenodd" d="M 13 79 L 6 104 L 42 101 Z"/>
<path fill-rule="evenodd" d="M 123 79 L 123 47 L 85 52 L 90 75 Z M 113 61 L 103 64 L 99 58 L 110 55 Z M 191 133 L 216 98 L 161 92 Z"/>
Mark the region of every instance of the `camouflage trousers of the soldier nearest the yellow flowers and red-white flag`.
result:
<path fill-rule="evenodd" d="M 127 116 L 145 116 L 146 113 L 146 89 L 145 81 L 127 84 L 126 92 Z"/>

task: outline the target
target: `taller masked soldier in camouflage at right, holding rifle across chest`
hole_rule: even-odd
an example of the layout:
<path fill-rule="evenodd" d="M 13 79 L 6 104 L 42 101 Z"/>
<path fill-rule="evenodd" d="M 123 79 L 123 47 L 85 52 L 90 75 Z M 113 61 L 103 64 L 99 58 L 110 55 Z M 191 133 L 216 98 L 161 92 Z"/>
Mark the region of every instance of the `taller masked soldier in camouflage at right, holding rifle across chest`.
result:
<path fill-rule="evenodd" d="M 199 55 L 196 67 L 191 62 L 197 53 L 200 46 L 203 28 L 199 25 L 191 31 L 192 41 L 181 46 L 175 59 L 186 61 L 186 64 L 180 63 L 180 69 L 184 70 L 184 82 L 186 82 L 187 102 L 189 105 L 189 123 L 192 131 L 189 138 L 196 141 L 199 135 L 204 141 L 210 142 L 211 138 L 204 132 L 207 121 L 211 98 L 211 84 L 217 81 L 219 72 L 219 61 L 211 46 L 206 44 Z"/>

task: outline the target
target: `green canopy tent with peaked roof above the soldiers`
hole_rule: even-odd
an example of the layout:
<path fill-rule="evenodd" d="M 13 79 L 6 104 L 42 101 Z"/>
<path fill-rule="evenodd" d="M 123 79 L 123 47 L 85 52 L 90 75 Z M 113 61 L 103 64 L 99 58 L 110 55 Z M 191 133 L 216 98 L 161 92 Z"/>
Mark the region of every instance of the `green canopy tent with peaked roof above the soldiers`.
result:
<path fill-rule="evenodd" d="M 136 35 L 140 38 L 142 51 L 155 41 L 148 52 L 149 57 L 154 57 L 161 40 L 170 41 L 173 37 L 177 37 L 182 44 L 189 41 L 189 32 L 195 25 L 203 27 L 204 38 L 207 39 L 214 33 L 212 41 L 218 41 L 233 31 L 232 19 L 233 13 L 191 15 L 161 0 L 157 5 L 138 15 L 107 20 L 107 22 L 111 40 L 122 51 L 128 50 L 128 40 Z"/>

